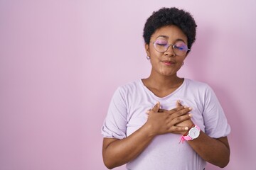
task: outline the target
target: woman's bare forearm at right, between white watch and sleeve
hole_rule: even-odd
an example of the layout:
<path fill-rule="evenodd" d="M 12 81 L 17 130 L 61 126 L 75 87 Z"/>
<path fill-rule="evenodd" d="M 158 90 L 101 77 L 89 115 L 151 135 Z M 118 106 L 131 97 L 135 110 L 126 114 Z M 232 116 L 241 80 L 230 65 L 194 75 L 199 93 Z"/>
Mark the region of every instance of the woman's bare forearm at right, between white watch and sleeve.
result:
<path fill-rule="evenodd" d="M 201 131 L 198 138 L 187 142 L 206 162 L 221 168 L 228 165 L 230 148 L 227 137 L 214 139 Z"/>

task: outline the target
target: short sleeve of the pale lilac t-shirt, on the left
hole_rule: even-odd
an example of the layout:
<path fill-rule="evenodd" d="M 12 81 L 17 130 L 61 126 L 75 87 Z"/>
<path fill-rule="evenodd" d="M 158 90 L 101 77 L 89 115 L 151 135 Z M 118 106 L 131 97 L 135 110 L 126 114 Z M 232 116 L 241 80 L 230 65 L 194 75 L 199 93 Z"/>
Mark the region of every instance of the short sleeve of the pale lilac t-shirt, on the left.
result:
<path fill-rule="evenodd" d="M 127 137 L 127 106 L 124 98 L 124 90 L 119 87 L 112 96 L 107 117 L 102 126 L 103 137 L 117 138 Z"/>

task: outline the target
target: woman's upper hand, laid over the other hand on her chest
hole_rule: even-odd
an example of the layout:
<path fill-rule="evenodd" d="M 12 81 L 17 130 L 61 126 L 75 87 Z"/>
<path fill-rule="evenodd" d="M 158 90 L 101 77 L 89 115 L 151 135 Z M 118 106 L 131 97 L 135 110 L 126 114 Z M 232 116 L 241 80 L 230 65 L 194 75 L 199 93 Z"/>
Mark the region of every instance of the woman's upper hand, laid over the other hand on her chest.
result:
<path fill-rule="evenodd" d="M 170 111 L 159 108 L 160 103 L 158 102 L 154 108 L 146 112 L 149 117 L 145 125 L 149 128 L 151 135 L 161 135 L 169 132 L 181 134 L 188 130 L 187 125 L 178 125 L 178 123 L 190 120 L 191 114 L 188 114 L 188 112 L 191 111 L 191 108 L 178 106 Z"/>

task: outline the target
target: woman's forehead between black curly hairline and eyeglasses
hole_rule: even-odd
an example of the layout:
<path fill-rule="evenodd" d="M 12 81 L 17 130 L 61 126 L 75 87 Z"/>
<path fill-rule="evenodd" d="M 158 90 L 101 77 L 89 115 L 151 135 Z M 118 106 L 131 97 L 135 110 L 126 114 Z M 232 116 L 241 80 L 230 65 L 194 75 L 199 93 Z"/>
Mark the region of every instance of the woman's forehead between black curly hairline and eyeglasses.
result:
<path fill-rule="evenodd" d="M 153 35 L 151 35 L 151 40 L 156 40 L 158 38 L 164 38 L 169 42 L 175 42 L 176 40 L 183 40 L 183 42 L 188 42 L 188 38 L 183 33 L 183 31 L 177 26 L 164 26 L 158 28 Z"/>

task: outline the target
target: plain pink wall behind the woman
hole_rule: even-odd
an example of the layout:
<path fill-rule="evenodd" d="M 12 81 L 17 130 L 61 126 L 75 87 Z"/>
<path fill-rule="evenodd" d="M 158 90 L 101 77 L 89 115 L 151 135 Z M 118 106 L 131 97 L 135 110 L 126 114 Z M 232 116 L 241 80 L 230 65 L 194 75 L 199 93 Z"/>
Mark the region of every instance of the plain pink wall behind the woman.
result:
<path fill-rule="evenodd" d="M 210 84 L 223 105 L 225 169 L 255 168 L 256 1 L 0 0 L 0 170 L 106 169 L 110 98 L 149 76 L 142 30 L 163 6 L 196 18 L 179 75 Z"/>

